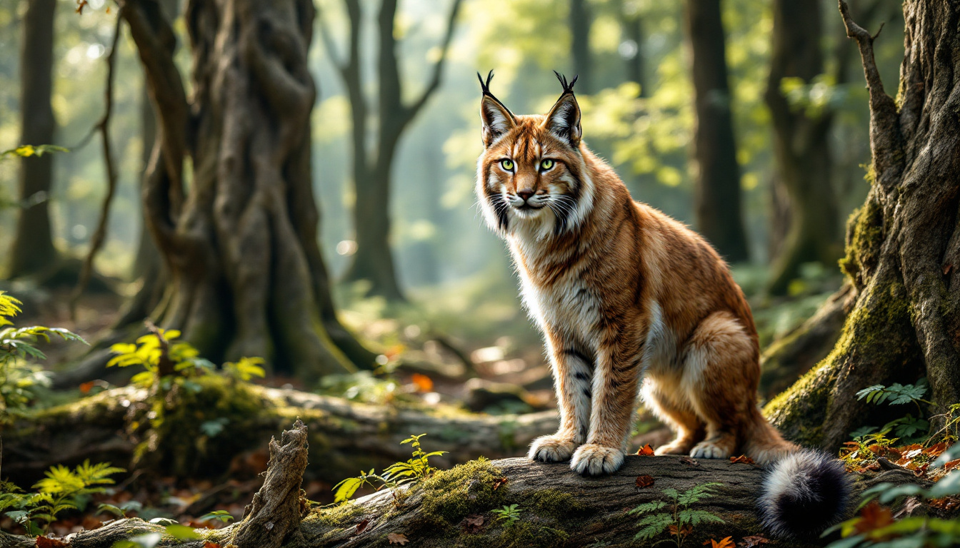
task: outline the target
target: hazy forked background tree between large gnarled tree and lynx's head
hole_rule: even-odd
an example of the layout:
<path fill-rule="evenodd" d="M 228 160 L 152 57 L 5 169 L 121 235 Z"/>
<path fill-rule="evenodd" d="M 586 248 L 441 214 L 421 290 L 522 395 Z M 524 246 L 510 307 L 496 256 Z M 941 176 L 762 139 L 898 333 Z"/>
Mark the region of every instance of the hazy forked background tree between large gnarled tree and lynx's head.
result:
<path fill-rule="evenodd" d="M 462 0 L 454 0 L 446 22 L 444 40 L 439 57 L 433 64 L 432 75 L 426 87 L 412 102 L 403 101 L 403 83 L 396 58 L 397 40 L 396 0 L 383 0 L 377 14 L 378 50 L 376 59 L 376 133 L 368 133 L 372 114 L 370 101 L 364 91 L 365 83 L 361 60 L 361 30 L 363 13 L 359 0 L 345 0 L 349 19 L 348 53 L 340 60 L 332 36 L 321 29 L 326 52 L 337 66 L 347 87 L 352 123 L 353 154 L 353 227 L 356 231 L 356 252 L 347 272 L 349 280 L 369 280 L 370 293 L 391 300 L 403 300 L 403 292 L 396 278 L 396 265 L 391 250 L 390 194 L 391 172 L 400 136 L 408 128 L 430 96 L 440 86 L 444 62 L 453 37 L 457 13 Z M 374 145 L 369 146 L 370 141 Z"/>

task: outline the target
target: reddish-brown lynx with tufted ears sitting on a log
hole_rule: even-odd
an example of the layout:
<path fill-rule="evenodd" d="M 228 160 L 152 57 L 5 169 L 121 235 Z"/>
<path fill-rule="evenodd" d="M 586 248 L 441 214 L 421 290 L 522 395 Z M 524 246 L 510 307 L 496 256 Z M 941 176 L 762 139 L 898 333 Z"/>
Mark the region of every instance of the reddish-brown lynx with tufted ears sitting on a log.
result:
<path fill-rule="evenodd" d="M 658 455 L 780 462 L 761 505 L 775 533 L 796 533 L 794 512 L 804 512 L 801 531 L 817 526 L 809 512 L 840 515 L 842 467 L 784 441 L 757 408 L 756 327 L 727 265 L 701 236 L 635 202 L 588 150 L 577 79 L 557 75 L 563 93 L 546 115 L 515 115 L 490 92 L 492 71 L 477 77 L 476 192 L 543 332 L 560 408 L 560 429 L 534 441 L 529 457 L 569 460 L 583 475 L 616 471 L 641 393 L 676 432 Z"/>

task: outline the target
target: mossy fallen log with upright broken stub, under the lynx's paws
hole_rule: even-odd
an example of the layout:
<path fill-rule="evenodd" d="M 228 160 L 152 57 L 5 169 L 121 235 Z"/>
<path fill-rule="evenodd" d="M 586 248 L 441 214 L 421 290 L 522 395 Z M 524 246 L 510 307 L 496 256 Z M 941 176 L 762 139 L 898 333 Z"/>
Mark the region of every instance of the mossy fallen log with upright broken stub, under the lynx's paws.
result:
<path fill-rule="evenodd" d="M 267 480 L 239 523 L 196 530 L 201 538 L 178 540 L 162 526 L 123 519 L 67 540 L 72 548 L 109 548 L 118 540 L 148 533 L 163 536 L 161 546 L 185 548 L 209 546 L 207 542 L 235 548 L 367 548 L 406 541 L 444 548 L 649 545 L 666 534 L 637 542 L 640 516 L 630 511 L 664 501 L 663 511 L 673 512 L 673 499 L 664 489 L 683 492 L 708 482 L 719 484 L 715 495 L 690 508 L 722 521 L 701 522 L 687 532 L 685 544 L 762 535 L 756 497 L 763 470 L 685 457 L 631 456 L 618 472 L 601 478 L 583 478 L 564 464 L 480 459 L 437 471 L 414 487 L 382 489 L 341 506 L 311 509 L 300 495 L 307 439 L 307 429 L 298 421 L 281 442 L 271 441 Z M 494 511 L 507 505 L 516 505 L 516 520 L 498 519 Z M 16 537 L 4 539 L 15 545 Z M 777 546 L 824 543 L 780 539 Z"/>

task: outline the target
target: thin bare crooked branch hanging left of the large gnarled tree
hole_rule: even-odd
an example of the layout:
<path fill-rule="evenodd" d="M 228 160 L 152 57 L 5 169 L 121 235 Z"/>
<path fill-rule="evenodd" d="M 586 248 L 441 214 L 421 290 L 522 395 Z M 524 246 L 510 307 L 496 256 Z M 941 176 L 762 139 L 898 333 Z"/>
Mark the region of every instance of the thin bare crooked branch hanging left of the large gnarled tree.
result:
<path fill-rule="evenodd" d="M 113 164 L 112 148 L 110 146 L 110 114 L 113 112 L 113 75 L 116 70 L 117 43 L 120 39 L 121 23 L 123 22 L 124 7 L 120 7 L 117 13 L 116 24 L 113 27 L 113 41 L 110 43 L 110 53 L 107 56 L 107 86 L 104 91 L 104 115 L 97 123 L 96 131 L 100 132 L 101 140 L 104 146 L 104 164 L 107 167 L 107 194 L 104 195 L 104 202 L 100 209 L 100 221 L 97 228 L 90 237 L 90 249 L 86 252 L 84 264 L 80 270 L 80 277 L 77 279 L 77 286 L 73 289 L 70 296 L 70 317 L 76 319 L 77 301 L 86 289 L 86 284 L 90 281 L 90 274 L 93 272 L 93 260 L 104 245 L 107 237 L 107 222 L 110 214 L 110 204 L 113 203 L 113 195 L 116 193 L 117 174 L 116 167 Z"/>

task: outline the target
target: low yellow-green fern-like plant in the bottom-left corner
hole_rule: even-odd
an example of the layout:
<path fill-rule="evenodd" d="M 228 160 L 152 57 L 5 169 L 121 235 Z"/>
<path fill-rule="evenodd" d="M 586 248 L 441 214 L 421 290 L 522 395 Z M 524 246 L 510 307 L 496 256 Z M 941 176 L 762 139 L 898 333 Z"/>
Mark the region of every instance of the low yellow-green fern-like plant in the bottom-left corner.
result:
<path fill-rule="evenodd" d="M 113 484 L 109 476 L 123 471 L 109 463 L 91 465 L 89 461 L 73 470 L 51 466 L 46 477 L 34 484 L 36 492 L 25 493 L 9 483 L 0 485 L 0 512 L 15 509 L 6 514 L 31 535 L 42 535 L 60 512 L 81 508 L 89 495 L 105 492 L 104 486 Z"/>

